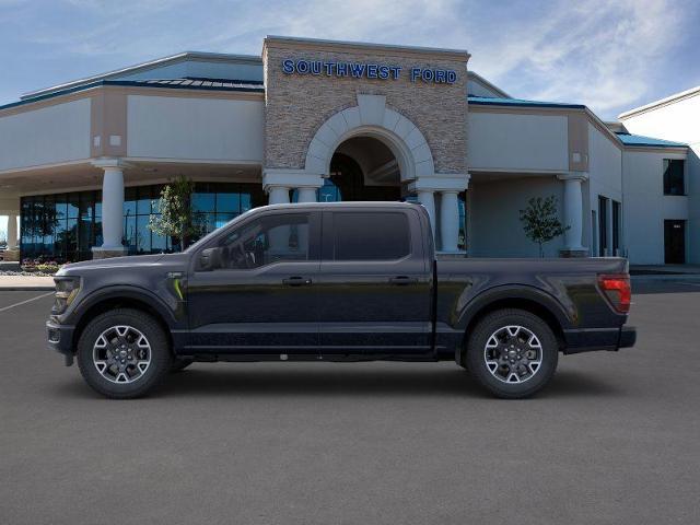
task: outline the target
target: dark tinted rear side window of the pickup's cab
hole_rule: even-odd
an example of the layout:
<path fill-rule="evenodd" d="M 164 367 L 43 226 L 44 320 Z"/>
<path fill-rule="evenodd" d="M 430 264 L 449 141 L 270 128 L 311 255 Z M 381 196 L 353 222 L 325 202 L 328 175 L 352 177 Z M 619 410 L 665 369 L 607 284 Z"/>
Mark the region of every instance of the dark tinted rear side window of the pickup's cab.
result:
<path fill-rule="evenodd" d="M 399 259 L 410 253 L 410 229 L 404 213 L 334 213 L 336 260 Z"/>

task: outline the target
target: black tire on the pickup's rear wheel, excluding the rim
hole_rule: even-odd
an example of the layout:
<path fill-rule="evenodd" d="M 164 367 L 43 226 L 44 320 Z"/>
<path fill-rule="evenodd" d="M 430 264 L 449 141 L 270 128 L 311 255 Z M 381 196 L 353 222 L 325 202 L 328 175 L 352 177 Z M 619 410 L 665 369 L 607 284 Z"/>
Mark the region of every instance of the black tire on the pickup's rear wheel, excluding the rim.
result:
<path fill-rule="evenodd" d="M 505 327 L 512 328 L 509 331 Z M 515 331 L 514 327 L 522 327 L 522 330 L 512 335 L 511 331 Z M 528 331 L 537 338 L 528 341 L 534 345 L 539 342 L 536 350 L 532 350 L 523 342 L 529 337 Z M 504 339 L 508 342 L 501 342 L 501 338 L 508 338 Z M 500 345 L 498 350 L 494 347 L 497 342 Z M 493 353 L 489 355 L 497 354 L 503 361 L 510 361 L 512 358 L 515 360 L 514 364 L 505 362 L 497 366 L 493 364 L 494 361 L 498 363 L 501 361 L 492 360 L 491 365 L 494 368 L 492 372 L 487 365 L 487 343 L 494 349 L 490 350 Z M 523 357 L 522 363 L 528 363 L 525 354 L 534 351 L 541 362 L 533 372 L 536 366 L 533 362 L 537 361 L 537 358 L 533 359 L 529 368 L 518 366 L 521 362 L 517 361 L 517 355 L 508 353 L 509 351 L 517 351 L 518 355 Z M 508 308 L 491 312 L 477 324 L 468 338 L 465 363 L 471 375 L 494 396 L 503 399 L 520 399 L 532 396 L 549 383 L 557 370 L 558 359 L 559 345 L 549 325 L 537 315 L 524 310 Z"/>

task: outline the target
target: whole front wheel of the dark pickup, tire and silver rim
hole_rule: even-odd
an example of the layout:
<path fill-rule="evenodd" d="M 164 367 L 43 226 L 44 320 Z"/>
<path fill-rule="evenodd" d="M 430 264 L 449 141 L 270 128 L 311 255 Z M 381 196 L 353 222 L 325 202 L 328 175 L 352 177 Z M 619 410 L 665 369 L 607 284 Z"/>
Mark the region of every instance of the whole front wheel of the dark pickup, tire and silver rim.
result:
<path fill-rule="evenodd" d="M 77 357 L 85 382 L 113 399 L 143 396 L 163 380 L 173 362 L 158 322 L 130 308 L 92 319 L 80 336 Z"/>

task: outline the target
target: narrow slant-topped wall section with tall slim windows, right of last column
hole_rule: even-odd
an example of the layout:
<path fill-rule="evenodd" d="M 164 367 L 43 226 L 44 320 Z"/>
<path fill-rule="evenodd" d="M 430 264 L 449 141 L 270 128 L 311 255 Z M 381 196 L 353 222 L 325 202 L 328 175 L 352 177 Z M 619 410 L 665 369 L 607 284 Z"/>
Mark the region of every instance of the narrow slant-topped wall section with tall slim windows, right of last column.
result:
<path fill-rule="evenodd" d="M 607 197 L 622 203 L 625 214 L 625 199 L 622 197 L 622 150 L 612 139 L 588 122 L 588 206 L 584 207 L 584 245 L 591 249 L 591 255 L 598 255 L 597 243 L 594 243 L 592 211 L 595 210 L 599 221 L 598 196 Z M 625 248 L 625 225 L 620 218 L 620 248 Z M 596 226 L 597 228 L 597 226 Z M 612 247 L 612 217 L 608 217 L 608 246 Z M 596 240 L 597 241 L 597 240 Z M 596 246 L 594 246 L 596 244 Z M 614 255 L 614 254 L 608 254 Z"/>

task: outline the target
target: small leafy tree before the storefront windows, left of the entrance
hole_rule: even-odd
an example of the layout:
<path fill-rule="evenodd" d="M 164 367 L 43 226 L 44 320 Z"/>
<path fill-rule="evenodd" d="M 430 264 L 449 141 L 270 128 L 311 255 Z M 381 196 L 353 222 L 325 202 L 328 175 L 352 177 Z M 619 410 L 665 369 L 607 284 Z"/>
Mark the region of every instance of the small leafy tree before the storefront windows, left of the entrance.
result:
<path fill-rule="evenodd" d="M 149 230 L 158 235 L 179 240 L 182 249 L 189 238 L 200 233 L 198 217 L 192 212 L 191 195 L 195 183 L 180 175 L 161 190 L 160 202 L 154 202 L 160 215 L 151 215 Z"/>

